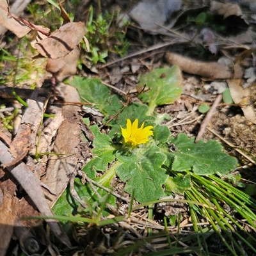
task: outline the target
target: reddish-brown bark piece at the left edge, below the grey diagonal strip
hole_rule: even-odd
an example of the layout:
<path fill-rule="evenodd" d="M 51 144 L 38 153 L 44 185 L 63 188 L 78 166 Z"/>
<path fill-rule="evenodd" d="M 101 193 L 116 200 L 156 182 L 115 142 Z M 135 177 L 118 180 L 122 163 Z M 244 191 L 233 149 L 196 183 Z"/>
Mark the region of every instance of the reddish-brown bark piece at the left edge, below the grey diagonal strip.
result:
<path fill-rule="evenodd" d="M 17 216 L 18 198 L 0 188 L 0 256 L 6 255 Z"/>

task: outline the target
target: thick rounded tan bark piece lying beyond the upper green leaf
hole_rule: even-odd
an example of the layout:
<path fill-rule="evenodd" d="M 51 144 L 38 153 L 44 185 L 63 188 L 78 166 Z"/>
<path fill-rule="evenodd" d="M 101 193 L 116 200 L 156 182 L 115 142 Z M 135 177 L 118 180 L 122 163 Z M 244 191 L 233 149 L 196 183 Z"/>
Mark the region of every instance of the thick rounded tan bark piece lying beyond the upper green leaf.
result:
<path fill-rule="evenodd" d="M 228 66 L 217 62 L 195 61 L 173 52 L 166 52 L 166 60 L 172 65 L 189 74 L 194 74 L 209 79 L 230 79 L 232 70 Z"/>

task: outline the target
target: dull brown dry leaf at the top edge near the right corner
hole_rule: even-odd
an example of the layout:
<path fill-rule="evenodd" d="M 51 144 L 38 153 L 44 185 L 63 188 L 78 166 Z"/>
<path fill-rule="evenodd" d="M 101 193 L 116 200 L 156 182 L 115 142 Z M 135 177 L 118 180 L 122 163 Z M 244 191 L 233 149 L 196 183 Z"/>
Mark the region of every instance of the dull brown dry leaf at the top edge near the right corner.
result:
<path fill-rule="evenodd" d="M 242 15 L 239 5 L 232 3 L 219 3 L 217 1 L 211 1 L 210 11 L 214 14 L 222 15 L 224 19 L 231 15 Z"/>

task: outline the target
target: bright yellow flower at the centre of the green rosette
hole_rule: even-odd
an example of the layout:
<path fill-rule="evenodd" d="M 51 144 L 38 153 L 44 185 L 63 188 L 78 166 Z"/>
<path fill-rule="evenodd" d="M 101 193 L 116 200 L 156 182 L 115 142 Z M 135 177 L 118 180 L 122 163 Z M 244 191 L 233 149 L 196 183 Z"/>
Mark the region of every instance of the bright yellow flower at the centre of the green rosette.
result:
<path fill-rule="evenodd" d="M 133 123 L 130 119 L 127 119 L 126 129 L 124 129 L 121 125 L 120 127 L 122 130 L 122 136 L 124 137 L 124 142 L 131 143 L 132 147 L 135 147 L 142 143 L 147 143 L 148 136 L 153 135 L 153 131 L 150 131 L 151 129 L 153 129 L 153 126 L 149 125 L 143 128 L 143 123 L 141 127 L 138 128 L 138 119 L 135 119 Z"/>

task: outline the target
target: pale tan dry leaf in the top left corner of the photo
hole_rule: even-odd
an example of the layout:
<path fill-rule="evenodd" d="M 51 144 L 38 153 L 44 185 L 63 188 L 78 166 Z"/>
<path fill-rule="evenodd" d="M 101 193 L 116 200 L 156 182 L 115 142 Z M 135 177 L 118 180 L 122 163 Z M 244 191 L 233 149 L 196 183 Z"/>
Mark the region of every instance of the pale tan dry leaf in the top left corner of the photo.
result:
<path fill-rule="evenodd" d="M 7 1 L 0 1 L 0 24 L 4 26 L 4 28 L 12 31 L 19 38 L 27 35 L 30 28 L 17 22 L 17 20 L 13 19 L 8 15 L 8 3 Z"/>

